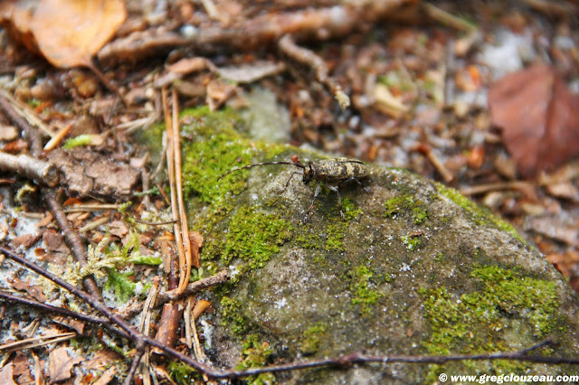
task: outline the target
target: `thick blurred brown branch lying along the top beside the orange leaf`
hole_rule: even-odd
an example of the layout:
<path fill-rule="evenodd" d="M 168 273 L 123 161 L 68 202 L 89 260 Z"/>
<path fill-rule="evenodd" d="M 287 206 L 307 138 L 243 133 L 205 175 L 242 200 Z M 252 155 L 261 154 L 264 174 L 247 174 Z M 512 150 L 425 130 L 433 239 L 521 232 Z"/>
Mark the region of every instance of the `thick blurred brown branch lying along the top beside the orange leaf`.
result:
<path fill-rule="evenodd" d="M 395 15 L 399 7 L 411 0 L 365 0 L 346 5 L 308 8 L 304 11 L 263 14 L 250 20 L 199 28 L 184 36 L 163 28 L 131 33 L 105 45 L 98 53 L 100 62 L 138 61 L 153 52 L 186 46 L 200 55 L 204 52 L 231 49 L 249 52 L 256 47 L 275 44 L 283 35 L 291 34 L 297 42 L 327 40 L 344 36 L 353 30 L 372 25 Z"/>

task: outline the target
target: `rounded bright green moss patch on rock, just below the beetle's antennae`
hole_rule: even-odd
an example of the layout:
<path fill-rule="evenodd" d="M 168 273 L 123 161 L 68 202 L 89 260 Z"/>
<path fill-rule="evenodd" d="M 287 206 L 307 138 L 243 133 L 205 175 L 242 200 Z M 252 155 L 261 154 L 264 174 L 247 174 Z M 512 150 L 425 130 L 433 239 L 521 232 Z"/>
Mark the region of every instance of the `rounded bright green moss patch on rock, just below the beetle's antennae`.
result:
<path fill-rule="evenodd" d="M 262 268 L 291 236 L 288 221 L 257 210 L 256 207 L 242 207 L 233 215 L 225 234 L 223 264 L 229 264 L 233 258 L 242 258 L 248 261 L 250 268 Z"/>

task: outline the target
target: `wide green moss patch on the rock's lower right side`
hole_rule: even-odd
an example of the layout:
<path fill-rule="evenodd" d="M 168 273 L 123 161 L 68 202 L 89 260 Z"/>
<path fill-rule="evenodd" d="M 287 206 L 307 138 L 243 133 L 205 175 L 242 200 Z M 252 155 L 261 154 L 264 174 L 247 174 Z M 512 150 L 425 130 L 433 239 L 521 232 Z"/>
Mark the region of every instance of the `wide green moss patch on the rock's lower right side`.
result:
<path fill-rule="evenodd" d="M 514 327 L 531 325 L 530 332 L 537 340 L 555 327 L 555 283 L 496 266 L 476 268 L 470 277 L 483 287 L 460 298 L 451 296 L 444 286 L 420 291 L 425 317 L 432 327 L 430 340 L 424 342 L 429 352 L 505 350 L 508 341 L 504 333 L 515 332 Z"/>

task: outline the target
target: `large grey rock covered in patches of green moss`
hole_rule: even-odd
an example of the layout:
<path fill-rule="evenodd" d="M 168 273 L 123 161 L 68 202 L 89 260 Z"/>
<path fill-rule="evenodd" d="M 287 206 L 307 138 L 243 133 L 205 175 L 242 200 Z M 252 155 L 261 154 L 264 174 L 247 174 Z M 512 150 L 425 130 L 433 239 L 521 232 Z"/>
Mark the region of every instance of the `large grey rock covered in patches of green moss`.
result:
<path fill-rule="evenodd" d="M 294 362 L 364 351 L 458 354 L 517 351 L 547 336 L 542 354 L 578 357 L 579 301 L 536 249 L 460 193 L 400 169 L 368 165 L 363 186 L 322 189 L 290 165 L 321 155 L 252 142 L 230 112 L 182 118 L 191 227 L 202 231 L 201 275 L 233 280 L 205 299 L 205 349 L 217 366 Z M 364 187 L 364 188 L 363 188 Z M 259 357 L 249 362 L 248 357 Z M 280 382 L 422 383 L 448 374 L 572 373 L 528 362 L 382 364 L 276 374 Z M 271 380 L 249 379 L 259 382 Z"/>

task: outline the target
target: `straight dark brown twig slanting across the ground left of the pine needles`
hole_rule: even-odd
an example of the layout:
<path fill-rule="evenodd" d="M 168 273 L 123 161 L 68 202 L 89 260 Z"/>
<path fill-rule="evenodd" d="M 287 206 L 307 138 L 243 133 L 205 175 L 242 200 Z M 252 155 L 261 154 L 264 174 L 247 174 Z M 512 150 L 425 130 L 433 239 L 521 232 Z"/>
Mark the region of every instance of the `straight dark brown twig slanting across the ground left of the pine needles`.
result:
<path fill-rule="evenodd" d="M 45 192 L 44 200 L 48 203 L 56 223 L 58 223 L 58 226 L 61 228 L 62 233 L 64 234 L 64 241 L 69 249 L 71 249 L 72 256 L 81 264 L 81 267 L 86 266 L 88 264 L 88 258 L 81 236 L 78 232 L 72 229 L 69 220 L 66 219 L 66 214 L 62 211 L 61 203 L 56 200 L 56 197 L 52 192 Z M 92 296 L 102 300 L 99 286 L 97 286 L 94 277 L 90 275 L 82 278 L 82 284 Z"/>

